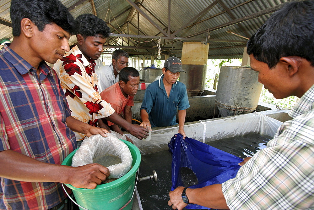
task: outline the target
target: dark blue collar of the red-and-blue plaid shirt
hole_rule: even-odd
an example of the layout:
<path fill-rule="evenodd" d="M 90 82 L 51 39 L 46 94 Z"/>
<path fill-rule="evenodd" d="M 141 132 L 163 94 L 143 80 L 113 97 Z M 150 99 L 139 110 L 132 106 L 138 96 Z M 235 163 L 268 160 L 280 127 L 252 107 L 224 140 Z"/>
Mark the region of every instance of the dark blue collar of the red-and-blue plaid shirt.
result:
<path fill-rule="evenodd" d="M 14 52 L 10 47 L 10 44 L 6 43 L 3 45 L 3 49 L 1 50 L 3 56 L 14 66 L 14 68 L 21 74 L 27 74 L 30 70 L 35 71 L 36 69 L 30 65 L 24 58 L 19 56 L 16 52 Z M 50 67 L 45 63 L 45 61 L 41 61 L 38 68 L 40 68 L 41 73 L 44 75 L 51 75 Z"/>

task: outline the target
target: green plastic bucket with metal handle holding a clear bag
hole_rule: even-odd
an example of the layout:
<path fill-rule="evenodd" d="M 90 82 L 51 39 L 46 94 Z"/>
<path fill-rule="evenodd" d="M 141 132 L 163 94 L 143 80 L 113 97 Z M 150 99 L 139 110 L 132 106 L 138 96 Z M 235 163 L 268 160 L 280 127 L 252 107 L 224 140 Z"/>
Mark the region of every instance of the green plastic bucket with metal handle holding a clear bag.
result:
<path fill-rule="evenodd" d="M 65 184 L 73 191 L 76 202 L 86 209 L 120 209 L 122 208 L 133 196 L 135 188 L 135 174 L 141 163 L 141 153 L 138 148 L 128 141 L 123 141 L 130 149 L 133 162 L 132 169 L 121 178 L 109 182 L 107 184 L 97 185 L 95 189 L 76 188 L 72 185 Z M 76 149 L 77 150 L 77 149 Z M 76 152 L 74 150 L 68 157 L 64 159 L 62 165 L 71 166 L 72 158 Z M 123 210 L 131 209 L 133 199 L 127 204 Z M 80 208 L 82 209 L 82 208 Z"/>

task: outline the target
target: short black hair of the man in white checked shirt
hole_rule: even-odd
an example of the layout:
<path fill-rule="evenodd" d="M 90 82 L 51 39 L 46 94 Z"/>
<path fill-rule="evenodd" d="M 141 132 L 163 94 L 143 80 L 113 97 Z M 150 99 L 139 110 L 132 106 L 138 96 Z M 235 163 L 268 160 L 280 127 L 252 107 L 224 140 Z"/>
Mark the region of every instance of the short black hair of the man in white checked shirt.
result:
<path fill-rule="evenodd" d="M 275 67 L 286 56 L 305 58 L 314 66 L 314 1 L 293 1 L 273 13 L 247 42 L 247 53 Z"/>

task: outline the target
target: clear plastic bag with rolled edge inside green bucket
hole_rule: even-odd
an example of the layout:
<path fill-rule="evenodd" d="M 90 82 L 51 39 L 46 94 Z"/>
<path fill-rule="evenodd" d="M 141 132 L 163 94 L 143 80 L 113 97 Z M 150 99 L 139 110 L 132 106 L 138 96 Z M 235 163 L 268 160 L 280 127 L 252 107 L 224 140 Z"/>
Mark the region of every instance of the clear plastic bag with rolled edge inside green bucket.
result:
<path fill-rule="evenodd" d="M 107 133 L 107 137 L 98 134 L 85 139 L 73 156 L 72 166 L 82 166 L 94 163 L 93 161 L 96 159 L 102 159 L 102 162 L 107 164 L 111 162 L 109 166 L 105 165 L 110 171 L 108 179 L 120 178 L 125 175 L 131 169 L 133 159 L 127 145 L 116 136 L 122 137 L 112 131 Z M 120 159 L 121 163 L 117 163 L 116 159 Z"/>

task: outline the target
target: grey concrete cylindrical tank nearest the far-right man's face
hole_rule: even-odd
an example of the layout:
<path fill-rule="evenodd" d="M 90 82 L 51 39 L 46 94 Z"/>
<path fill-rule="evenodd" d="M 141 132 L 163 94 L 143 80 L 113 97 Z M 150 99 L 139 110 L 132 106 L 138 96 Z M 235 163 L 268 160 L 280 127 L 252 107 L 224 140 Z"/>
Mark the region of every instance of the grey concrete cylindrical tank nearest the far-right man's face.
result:
<path fill-rule="evenodd" d="M 215 103 L 221 117 L 251 113 L 257 108 L 263 85 L 250 68 L 220 68 Z"/>

